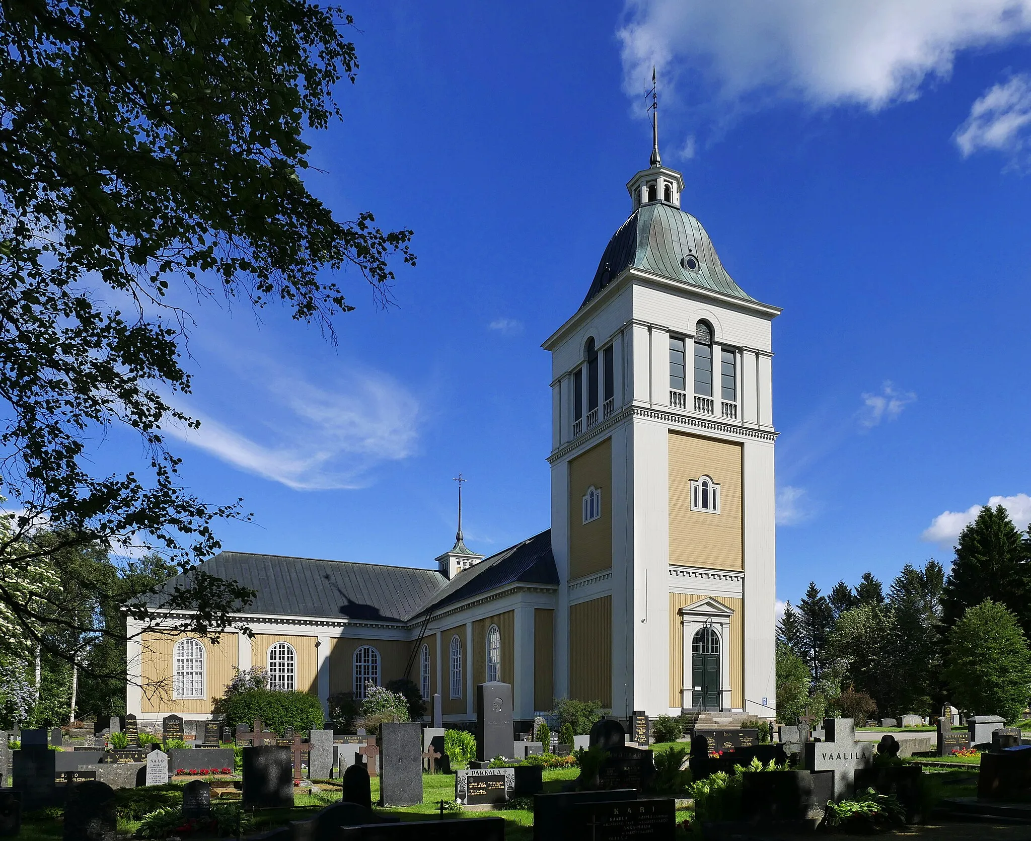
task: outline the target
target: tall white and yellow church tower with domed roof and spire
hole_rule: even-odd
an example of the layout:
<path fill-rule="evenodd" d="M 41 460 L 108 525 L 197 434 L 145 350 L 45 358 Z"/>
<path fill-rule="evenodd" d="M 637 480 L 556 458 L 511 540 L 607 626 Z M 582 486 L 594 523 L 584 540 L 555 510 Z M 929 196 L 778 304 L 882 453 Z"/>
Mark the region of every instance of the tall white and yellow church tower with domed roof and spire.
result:
<path fill-rule="evenodd" d="M 775 714 L 770 325 L 662 165 L 553 364 L 555 695 L 618 716 Z"/>

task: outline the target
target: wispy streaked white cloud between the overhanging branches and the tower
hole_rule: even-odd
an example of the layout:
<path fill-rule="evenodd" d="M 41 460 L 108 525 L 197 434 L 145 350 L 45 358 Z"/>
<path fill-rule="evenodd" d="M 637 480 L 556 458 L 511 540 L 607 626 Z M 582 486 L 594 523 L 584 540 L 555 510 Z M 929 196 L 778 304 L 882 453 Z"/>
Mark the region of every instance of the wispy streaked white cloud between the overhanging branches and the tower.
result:
<path fill-rule="evenodd" d="M 367 372 L 323 386 L 271 366 L 257 373 L 247 405 L 260 429 L 244 434 L 188 406 L 201 426 L 179 430 L 179 437 L 296 491 L 358 487 L 376 464 L 411 455 L 419 403 L 386 375 Z"/>

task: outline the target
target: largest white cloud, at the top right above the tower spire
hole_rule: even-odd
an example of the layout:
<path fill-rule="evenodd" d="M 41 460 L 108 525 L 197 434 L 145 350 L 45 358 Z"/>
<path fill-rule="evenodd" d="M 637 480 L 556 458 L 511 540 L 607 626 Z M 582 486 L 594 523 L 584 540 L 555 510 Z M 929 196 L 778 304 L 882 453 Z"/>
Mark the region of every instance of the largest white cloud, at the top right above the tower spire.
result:
<path fill-rule="evenodd" d="M 1031 0 L 627 0 L 618 35 L 635 101 L 654 64 L 666 91 L 709 73 L 725 100 L 876 110 L 946 78 L 958 52 L 1028 32 Z"/>

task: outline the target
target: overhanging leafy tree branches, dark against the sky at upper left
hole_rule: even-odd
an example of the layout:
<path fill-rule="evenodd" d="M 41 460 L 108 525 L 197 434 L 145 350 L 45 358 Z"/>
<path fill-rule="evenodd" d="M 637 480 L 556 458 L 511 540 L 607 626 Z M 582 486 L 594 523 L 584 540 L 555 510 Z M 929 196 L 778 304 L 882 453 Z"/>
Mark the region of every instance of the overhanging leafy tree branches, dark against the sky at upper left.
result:
<path fill-rule="evenodd" d="M 304 181 L 305 132 L 341 116 L 333 92 L 355 80 L 352 23 L 308 0 L 3 3 L 0 493 L 19 514 L 0 580 L 63 549 L 134 545 L 191 571 L 157 605 L 130 602 L 137 634 L 165 608 L 181 611 L 170 631 L 212 636 L 253 598 L 196 570 L 215 523 L 246 515 L 186 490 L 165 447 L 168 424 L 198 426 L 175 407 L 191 388 L 180 302 L 277 302 L 332 337 L 353 308 L 333 271 L 384 301 L 390 261 L 413 262 L 410 231 L 338 220 Z M 98 458 L 124 432 L 139 463 Z M 33 543 L 43 525 L 56 540 Z M 94 631 L 35 593 L 0 587 L 0 604 L 67 663 Z M 40 630 L 54 621 L 62 633 Z M 103 627 L 123 649 L 124 628 Z"/>

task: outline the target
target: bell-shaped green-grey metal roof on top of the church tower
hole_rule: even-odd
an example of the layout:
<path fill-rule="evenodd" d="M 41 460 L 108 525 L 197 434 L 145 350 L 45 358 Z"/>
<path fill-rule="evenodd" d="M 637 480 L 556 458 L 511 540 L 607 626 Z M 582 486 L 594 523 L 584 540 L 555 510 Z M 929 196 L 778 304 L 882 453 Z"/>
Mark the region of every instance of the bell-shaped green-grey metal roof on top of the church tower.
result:
<path fill-rule="evenodd" d="M 698 260 L 695 271 L 681 265 L 689 255 Z M 630 266 L 688 285 L 755 300 L 727 274 L 701 223 L 665 202 L 642 204 L 620 226 L 605 247 L 584 304 Z"/>

